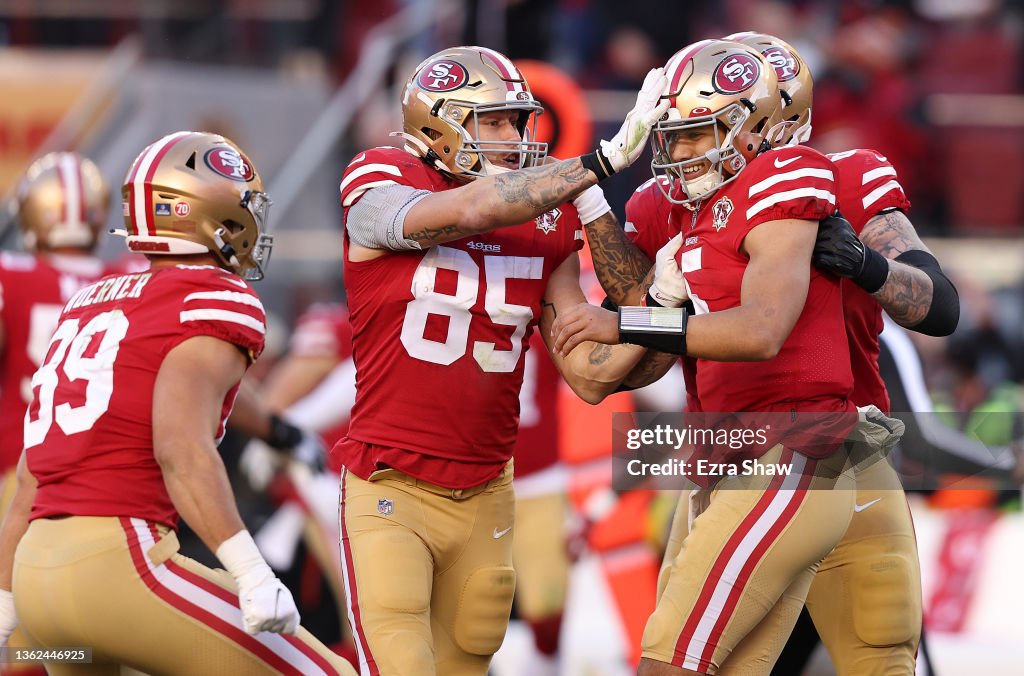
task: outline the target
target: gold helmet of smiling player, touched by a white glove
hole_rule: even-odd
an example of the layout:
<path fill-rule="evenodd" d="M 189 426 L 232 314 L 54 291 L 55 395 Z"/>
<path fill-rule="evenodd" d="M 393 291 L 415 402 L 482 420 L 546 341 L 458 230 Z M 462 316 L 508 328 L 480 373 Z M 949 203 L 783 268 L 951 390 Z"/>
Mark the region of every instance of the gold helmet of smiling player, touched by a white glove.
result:
<path fill-rule="evenodd" d="M 675 204 L 690 204 L 733 180 L 749 157 L 769 147 L 768 132 L 781 121 L 778 78 L 756 49 L 727 40 L 702 40 L 680 49 L 666 66 L 669 78 L 664 93 L 668 113 L 654 126 L 651 169 L 666 197 Z M 715 147 L 698 157 L 676 162 L 671 149 L 676 134 L 711 128 Z M 738 136 L 752 133 L 739 147 Z M 746 153 L 746 155 L 744 155 Z M 753 155 L 752 155 L 753 154 Z M 687 178 L 688 167 L 711 168 Z"/>

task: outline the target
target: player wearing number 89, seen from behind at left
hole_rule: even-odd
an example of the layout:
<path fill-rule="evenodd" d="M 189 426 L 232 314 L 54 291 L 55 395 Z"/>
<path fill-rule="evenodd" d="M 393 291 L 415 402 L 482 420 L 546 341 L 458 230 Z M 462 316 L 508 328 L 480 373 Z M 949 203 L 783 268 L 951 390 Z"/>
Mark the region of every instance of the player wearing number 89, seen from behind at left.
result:
<path fill-rule="evenodd" d="M 143 150 L 122 195 L 128 248 L 152 268 L 106 277 L 60 313 L 0 529 L 4 601 L 34 645 L 88 645 L 92 669 L 351 674 L 298 627 L 216 450 L 263 349 L 246 282 L 269 255 L 262 181 L 227 139 L 185 131 Z M 226 573 L 178 553 L 179 514 Z"/>

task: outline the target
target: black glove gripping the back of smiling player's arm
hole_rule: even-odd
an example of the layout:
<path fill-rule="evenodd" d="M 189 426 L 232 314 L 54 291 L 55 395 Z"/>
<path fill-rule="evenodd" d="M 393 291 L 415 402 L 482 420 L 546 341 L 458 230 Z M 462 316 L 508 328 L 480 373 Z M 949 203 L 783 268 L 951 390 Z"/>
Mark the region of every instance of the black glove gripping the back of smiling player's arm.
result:
<path fill-rule="evenodd" d="M 838 211 L 818 223 L 811 260 L 823 270 L 853 281 L 867 293 L 881 289 L 889 277 L 889 261 L 864 246 L 850 221 Z"/>

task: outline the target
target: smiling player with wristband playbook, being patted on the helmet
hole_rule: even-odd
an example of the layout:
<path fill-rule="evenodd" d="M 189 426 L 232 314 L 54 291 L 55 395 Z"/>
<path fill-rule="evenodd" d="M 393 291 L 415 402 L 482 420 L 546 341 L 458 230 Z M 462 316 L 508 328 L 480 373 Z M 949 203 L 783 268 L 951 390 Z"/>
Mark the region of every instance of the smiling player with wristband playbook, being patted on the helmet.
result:
<path fill-rule="evenodd" d="M 670 60 L 667 75 L 672 107 L 653 138 L 653 166 L 667 175 L 653 185 L 677 205 L 668 217 L 685 238 L 675 259 L 685 284 L 659 293 L 658 277 L 647 298 L 681 304 L 688 296 L 693 314 L 638 308 L 623 311 L 616 326 L 614 315 L 578 306 L 557 320 L 556 347 L 589 338 L 687 354 L 697 357 L 701 411 L 816 414 L 807 417 L 831 443 L 790 436 L 742 451 L 790 464 L 785 479 L 725 491 L 735 482 L 727 477 L 710 482 L 714 493 L 694 492 L 702 510 L 690 518 L 702 527 L 689 533 L 668 573 L 638 671 L 767 673 L 818 561 L 853 512 L 852 472 L 840 453 L 854 420 L 843 414 L 855 412 L 842 296 L 838 280 L 811 267 L 817 221 L 835 210 L 834 167 L 807 149 L 769 150 L 781 120 L 777 77 L 750 47 L 696 43 Z M 629 323 L 655 313 L 678 322 L 671 336 Z M 653 362 L 670 364 L 672 354 Z M 826 467 L 839 476 L 837 490 L 807 491 Z"/>

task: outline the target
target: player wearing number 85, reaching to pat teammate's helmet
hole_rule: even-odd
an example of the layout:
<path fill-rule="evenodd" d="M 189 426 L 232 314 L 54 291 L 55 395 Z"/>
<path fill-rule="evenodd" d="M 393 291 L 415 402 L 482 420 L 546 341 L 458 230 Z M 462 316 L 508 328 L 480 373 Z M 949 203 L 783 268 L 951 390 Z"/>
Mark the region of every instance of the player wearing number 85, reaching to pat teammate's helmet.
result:
<path fill-rule="evenodd" d="M 525 341 L 584 300 L 582 223 L 613 219 L 595 184 L 642 152 L 665 75 L 612 141 L 546 161 L 539 103 L 482 47 L 442 50 L 402 92 L 404 147 L 341 180 L 356 400 L 341 459 L 350 620 L 365 674 L 484 674 L 515 586 L 510 459 Z M 588 345 L 556 366 L 596 402 L 639 358 Z"/>

